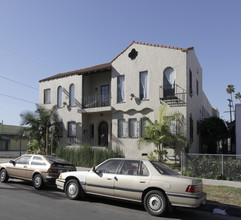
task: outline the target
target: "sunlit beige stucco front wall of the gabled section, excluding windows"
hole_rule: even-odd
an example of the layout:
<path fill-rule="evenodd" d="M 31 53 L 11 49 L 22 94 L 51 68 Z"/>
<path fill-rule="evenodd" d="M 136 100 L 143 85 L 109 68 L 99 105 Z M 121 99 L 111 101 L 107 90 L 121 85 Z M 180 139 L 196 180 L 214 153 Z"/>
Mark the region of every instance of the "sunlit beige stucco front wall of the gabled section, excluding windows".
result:
<path fill-rule="evenodd" d="M 131 60 L 128 54 L 133 48 L 138 52 L 138 56 Z M 152 121 L 156 120 L 161 105 L 159 92 L 160 86 L 163 85 L 164 70 L 167 67 L 172 67 L 176 71 L 176 84 L 186 88 L 186 53 L 181 50 L 133 44 L 112 65 L 113 145 L 118 145 L 129 157 L 141 157 L 143 153 L 152 152 L 155 147 L 145 145 L 138 149 L 138 139 L 118 138 L 118 119 L 123 118 L 128 122 L 130 118 L 136 118 L 140 122 L 143 116 L 147 116 Z M 148 71 L 149 99 L 142 101 L 139 100 L 139 74 L 143 71 Z M 126 99 L 123 103 L 117 102 L 117 78 L 120 75 L 125 75 Z M 135 95 L 133 100 L 130 100 L 131 93 Z M 167 112 L 170 114 L 181 113 L 184 116 L 184 121 L 186 111 L 185 106 L 167 107 Z"/>

